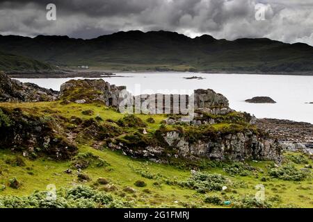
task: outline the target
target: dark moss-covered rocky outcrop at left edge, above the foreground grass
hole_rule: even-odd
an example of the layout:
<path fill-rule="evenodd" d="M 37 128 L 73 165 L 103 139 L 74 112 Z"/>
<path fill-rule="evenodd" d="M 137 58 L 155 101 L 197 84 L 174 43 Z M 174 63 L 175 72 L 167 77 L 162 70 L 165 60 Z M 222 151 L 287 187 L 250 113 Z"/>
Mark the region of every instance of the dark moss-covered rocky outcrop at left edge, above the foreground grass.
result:
<path fill-rule="evenodd" d="M 45 154 L 65 160 L 77 153 L 77 146 L 63 133 L 57 117 L 36 117 L 16 108 L 0 109 L 0 148 L 21 151 L 24 156 Z"/>

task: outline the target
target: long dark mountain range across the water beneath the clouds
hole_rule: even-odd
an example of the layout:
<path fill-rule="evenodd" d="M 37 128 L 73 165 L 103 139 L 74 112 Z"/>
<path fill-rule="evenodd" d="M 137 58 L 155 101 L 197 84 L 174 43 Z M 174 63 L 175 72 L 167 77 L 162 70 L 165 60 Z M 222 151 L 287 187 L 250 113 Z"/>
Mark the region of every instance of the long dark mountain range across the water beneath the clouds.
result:
<path fill-rule="evenodd" d="M 2 51 L 54 65 L 115 70 L 310 72 L 313 47 L 261 39 L 190 38 L 166 31 L 119 32 L 92 40 L 0 35 Z"/>

